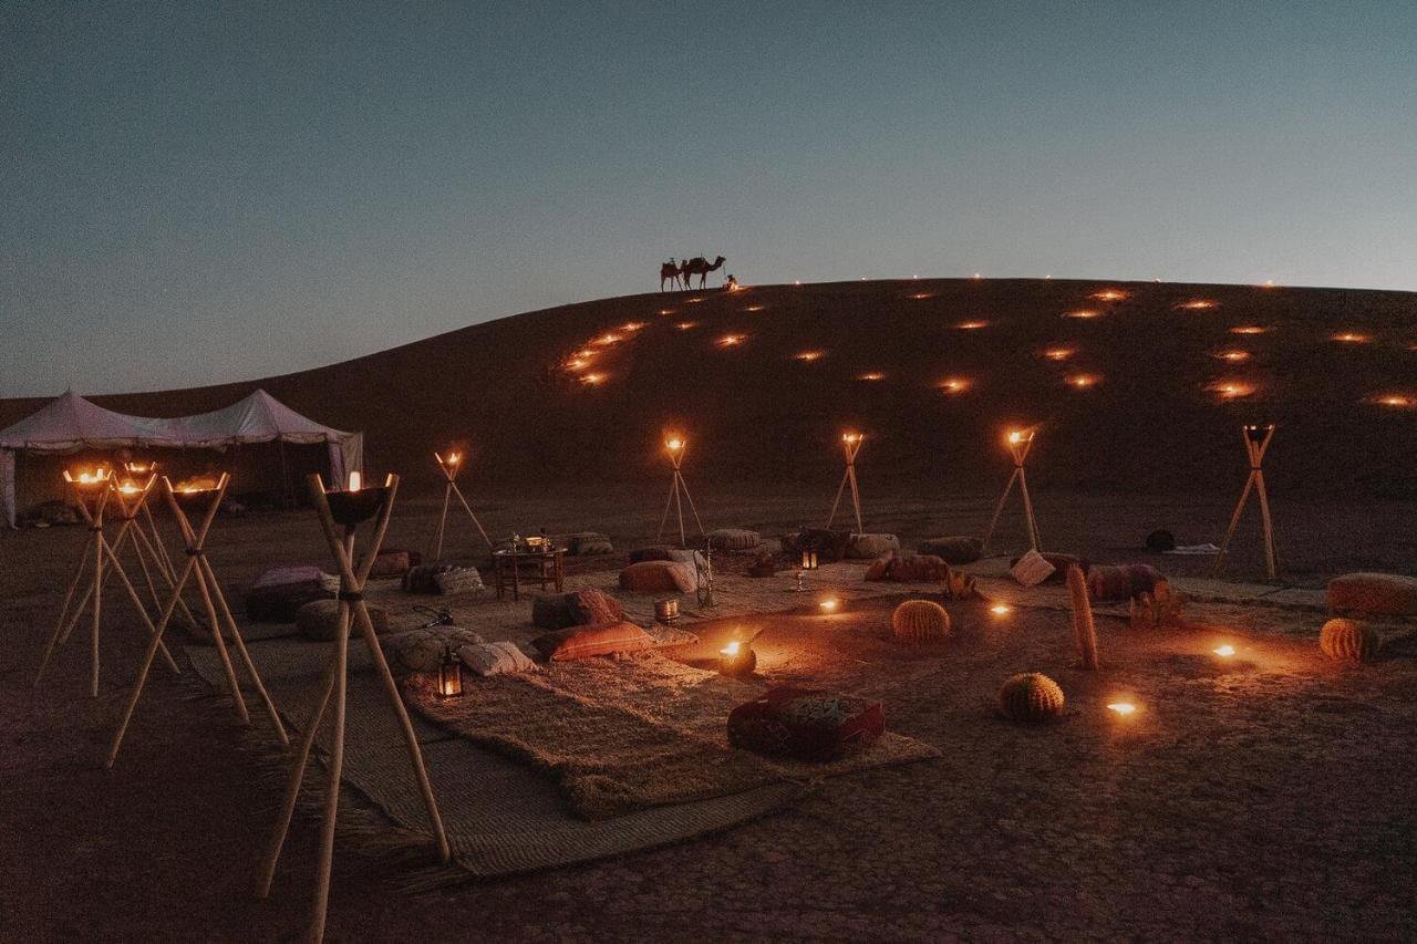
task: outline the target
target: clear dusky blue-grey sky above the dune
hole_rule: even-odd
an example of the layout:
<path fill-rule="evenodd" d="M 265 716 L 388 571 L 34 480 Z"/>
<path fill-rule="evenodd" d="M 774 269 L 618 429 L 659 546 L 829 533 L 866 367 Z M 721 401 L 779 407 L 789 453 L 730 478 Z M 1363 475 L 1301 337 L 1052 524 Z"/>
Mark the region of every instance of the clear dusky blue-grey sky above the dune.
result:
<path fill-rule="evenodd" d="M 986 276 L 1417 289 L 1411 3 L 0 4 L 0 395 Z"/>

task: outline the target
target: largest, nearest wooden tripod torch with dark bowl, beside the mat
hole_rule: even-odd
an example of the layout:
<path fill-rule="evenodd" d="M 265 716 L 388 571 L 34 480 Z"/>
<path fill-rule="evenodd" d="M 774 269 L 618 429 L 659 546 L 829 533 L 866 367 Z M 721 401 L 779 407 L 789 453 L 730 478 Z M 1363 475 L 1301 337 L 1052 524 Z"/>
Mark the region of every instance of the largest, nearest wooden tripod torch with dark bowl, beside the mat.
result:
<path fill-rule="evenodd" d="M 271 893 L 271 882 L 275 877 L 275 867 L 281 859 L 281 848 L 290 829 L 290 816 L 295 814 L 295 802 L 300 794 L 300 784 L 305 780 L 305 768 L 310 760 L 310 748 L 315 744 L 320 721 L 334 700 L 334 714 L 332 720 L 332 740 L 329 757 L 329 785 L 324 794 L 324 822 L 320 832 L 320 862 L 316 869 L 315 901 L 310 911 L 309 940 L 319 941 L 324 937 L 324 914 L 330 899 L 330 869 L 334 863 L 334 821 L 340 804 L 340 774 L 344 767 L 344 693 L 349 672 L 349 636 L 351 622 L 357 622 L 364 642 L 368 646 L 370 658 L 384 685 L 394 713 L 402 727 L 404 741 L 408 746 L 408 757 L 422 791 L 424 805 L 428 808 L 428 821 L 432 826 L 434 838 L 438 841 L 438 852 L 444 862 L 451 858 L 448 848 L 448 833 L 444 832 L 442 816 L 438 814 L 438 801 L 434 798 L 432 784 L 428 781 L 428 771 L 424 767 L 424 755 L 418 748 L 418 736 L 414 733 L 412 721 L 408 720 L 408 710 L 404 707 L 398 693 L 398 683 L 388 670 L 384 661 L 384 651 L 374 635 L 374 624 L 368 618 L 368 608 L 364 604 L 364 584 L 368 571 L 374 566 L 374 558 L 384 543 L 388 530 L 388 517 L 394 510 L 394 493 L 398 490 L 398 476 L 390 475 L 383 488 L 367 488 L 354 492 L 326 492 L 324 482 L 319 473 L 310 475 L 306 482 L 310 488 L 310 499 L 315 510 L 320 516 L 320 526 L 324 539 L 329 541 L 330 553 L 334 556 L 340 571 L 339 592 L 339 631 L 334 635 L 334 645 L 330 652 L 329 666 L 324 670 L 324 683 L 320 702 L 310 716 L 305 736 L 290 770 L 290 780 L 286 784 L 285 802 L 281 819 L 272 835 L 271 848 L 261 866 L 261 897 Z M 374 537 L 364 550 L 363 557 L 356 564 L 354 532 L 360 522 L 374 519 Z M 341 530 L 343 529 L 343 530 Z"/>

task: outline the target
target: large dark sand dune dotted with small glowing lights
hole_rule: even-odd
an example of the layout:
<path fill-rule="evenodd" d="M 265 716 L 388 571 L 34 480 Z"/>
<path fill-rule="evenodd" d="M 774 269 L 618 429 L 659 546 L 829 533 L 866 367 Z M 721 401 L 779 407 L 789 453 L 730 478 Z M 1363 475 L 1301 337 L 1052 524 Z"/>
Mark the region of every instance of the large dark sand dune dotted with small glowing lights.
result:
<path fill-rule="evenodd" d="M 1404 495 L 1417 412 L 1374 398 L 1417 404 L 1414 316 L 1417 295 L 1350 289 L 771 285 L 567 305 L 298 374 L 96 400 L 174 415 L 261 386 L 364 429 L 371 469 L 414 488 L 452 442 L 493 485 L 638 481 L 669 428 L 690 438 L 690 475 L 820 483 L 854 427 L 873 481 L 948 493 L 999 478 L 1009 424 L 1041 424 L 1041 488 L 1231 486 L 1238 425 L 1274 421 L 1274 490 Z M 37 403 L 0 403 L 0 422 Z"/>

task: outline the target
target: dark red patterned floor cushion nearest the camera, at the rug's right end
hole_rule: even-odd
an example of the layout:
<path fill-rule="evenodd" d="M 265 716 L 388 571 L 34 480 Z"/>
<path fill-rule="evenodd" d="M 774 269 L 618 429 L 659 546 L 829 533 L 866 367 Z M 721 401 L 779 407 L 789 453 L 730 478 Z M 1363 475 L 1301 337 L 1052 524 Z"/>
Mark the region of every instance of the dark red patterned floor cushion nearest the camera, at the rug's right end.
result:
<path fill-rule="evenodd" d="M 728 713 L 728 743 L 734 747 L 805 761 L 852 754 L 884 730 L 880 702 L 794 686 L 768 689 Z"/>

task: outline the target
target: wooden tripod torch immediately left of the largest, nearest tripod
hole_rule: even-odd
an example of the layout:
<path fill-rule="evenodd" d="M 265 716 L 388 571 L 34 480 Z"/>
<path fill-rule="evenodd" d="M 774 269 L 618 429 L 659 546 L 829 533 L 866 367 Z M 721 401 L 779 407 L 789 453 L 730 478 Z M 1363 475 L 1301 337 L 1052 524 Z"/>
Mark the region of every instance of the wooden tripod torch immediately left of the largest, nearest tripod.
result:
<path fill-rule="evenodd" d="M 255 663 L 251 661 L 251 653 L 247 652 L 247 644 L 241 638 L 241 629 L 237 628 L 235 617 L 231 615 L 231 607 L 227 604 L 227 595 L 221 590 L 221 581 L 217 580 L 217 573 L 211 568 L 211 561 L 207 560 L 207 534 L 211 532 L 211 523 L 217 517 L 217 509 L 221 507 L 221 500 L 227 495 L 227 486 L 231 483 L 231 476 L 225 472 L 217 481 L 217 488 L 205 492 L 184 493 L 183 500 L 196 500 L 204 496 L 210 496 L 207 510 L 201 516 L 201 524 L 193 527 L 191 522 L 187 519 L 187 513 L 183 510 L 181 502 L 177 500 L 177 492 L 173 489 L 173 483 L 163 476 L 163 493 L 167 496 L 167 505 L 173 512 L 173 517 L 177 520 L 177 526 L 181 529 L 183 543 L 187 549 L 187 563 L 183 564 L 181 573 L 176 575 L 173 584 L 171 597 L 167 601 L 167 607 L 163 609 L 162 618 L 157 621 L 157 629 L 153 632 L 153 641 L 147 646 L 147 653 L 143 656 L 143 665 L 137 670 L 137 680 L 133 682 L 133 690 L 128 696 L 128 704 L 123 707 L 123 719 L 118 724 L 118 731 L 113 734 L 113 743 L 108 751 L 106 767 L 112 768 L 113 761 L 118 760 L 118 748 L 123 744 L 123 734 L 128 731 L 128 723 L 133 717 L 133 710 L 137 707 L 137 700 L 143 696 L 143 686 L 147 683 L 147 672 L 153 668 L 153 656 L 157 655 L 157 646 L 162 645 L 163 632 L 167 631 L 167 624 L 171 622 L 173 612 L 177 609 L 177 604 L 181 602 L 183 588 L 187 581 L 193 577 L 197 578 L 197 592 L 201 595 L 201 602 L 207 609 L 207 619 L 211 626 L 211 641 L 217 648 L 217 655 L 221 656 L 221 668 L 227 673 L 227 689 L 231 692 L 231 700 L 237 704 L 237 714 L 241 717 L 242 724 L 251 723 L 251 714 L 247 712 L 247 702 L 241 695 L 241 683 L 237 680 L 237 670 L 231 665 L 231 655 L 227 652 L 225 639 L 222 639 L 222 632 L 231 636 L 231 644 L 237 649 L 237 655 L 241 656 L 241 663 L 247 669 L 247 675 L 251 678 L 251 683 L 261 697 L 261 704 L 265 707 L 266 717 L 271 719 L 271 726 L 275 727 L 276 737 L 281 738 L 282 744 L 289 744 L 290 738 L 285 733 L 285 724 L 281 723 L 281 713 L 276 712 L 275 703 L 271 696 L 266 695 L 265 685 L 261 682 L 261 673 L 256 672 Z M 217 614 L 221 614 L 221 619 L 217 619 Z"/>

